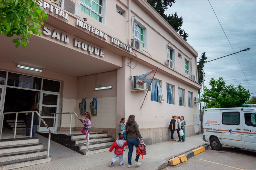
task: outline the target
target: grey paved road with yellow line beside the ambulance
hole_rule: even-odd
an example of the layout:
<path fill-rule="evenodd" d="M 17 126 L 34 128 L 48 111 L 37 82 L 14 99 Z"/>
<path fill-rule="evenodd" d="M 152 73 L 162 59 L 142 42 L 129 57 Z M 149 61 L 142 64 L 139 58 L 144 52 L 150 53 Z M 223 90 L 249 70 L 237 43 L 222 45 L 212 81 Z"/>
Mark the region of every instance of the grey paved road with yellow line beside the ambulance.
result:
<path fill-rule="evenodd" d="M 252 170 L 256 169 L 256 151 L 223 146 L 220 151 L 206 150 L 187 162 L 164 170 Z"/>

